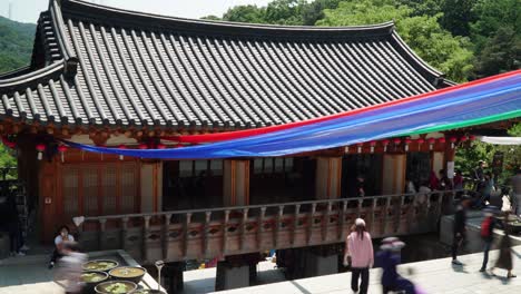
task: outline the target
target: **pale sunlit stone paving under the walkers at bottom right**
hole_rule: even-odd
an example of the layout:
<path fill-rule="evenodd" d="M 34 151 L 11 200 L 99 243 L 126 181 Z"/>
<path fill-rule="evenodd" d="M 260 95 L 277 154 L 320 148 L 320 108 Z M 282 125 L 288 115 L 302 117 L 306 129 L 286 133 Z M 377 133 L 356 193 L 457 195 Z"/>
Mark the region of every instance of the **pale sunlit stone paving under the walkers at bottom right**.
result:
<path fill-rule="evenodd" d="M 514 248 L 514 267 L 521 266 L 521 246 Z M 495 261 L 498 252 L 491 252 L 490 265 Z M 451 258 L 441 258 L 426 262 L 411 263 L 401 266 L 402 272 L 413 270 L 412 275 L 405 275 L 413 280 L 429 294 L 514 294 L 521 293 L 521 276 L 508 280 L 505 271 L 497 271 L 498 276 L 490 276 L 479 272 L 482 254 L 470 254 L 460 258 L 465 266 L 452 266 Z M 515 273 L 515 270 L 514 270 Z M 521 275 L 521 270 L 519 270 Z M 382 293 L 379 285 L 381 271 L 371 271 L 368 293 Z M 229 294 L 311 294 L 311 293 L 352 293 L 350 288 L 351 274 L 335 274 L 312 278 L 303 278 L 274 283 L 262 286 L 245 287 L 233 291 L 219 292 Z"/>

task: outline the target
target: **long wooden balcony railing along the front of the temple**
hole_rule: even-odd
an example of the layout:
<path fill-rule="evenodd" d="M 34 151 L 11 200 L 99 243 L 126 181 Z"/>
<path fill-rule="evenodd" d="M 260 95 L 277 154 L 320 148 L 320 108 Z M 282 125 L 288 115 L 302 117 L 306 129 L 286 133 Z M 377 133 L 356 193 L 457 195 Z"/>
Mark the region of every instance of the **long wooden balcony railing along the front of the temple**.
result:
<path fill-rule="evenodd" d="M 122 248 L 142 263 L 340 243 L 362 217 L 373 237 L 435 232 L 453 192 L 86 217 L 87 251 Z"/>

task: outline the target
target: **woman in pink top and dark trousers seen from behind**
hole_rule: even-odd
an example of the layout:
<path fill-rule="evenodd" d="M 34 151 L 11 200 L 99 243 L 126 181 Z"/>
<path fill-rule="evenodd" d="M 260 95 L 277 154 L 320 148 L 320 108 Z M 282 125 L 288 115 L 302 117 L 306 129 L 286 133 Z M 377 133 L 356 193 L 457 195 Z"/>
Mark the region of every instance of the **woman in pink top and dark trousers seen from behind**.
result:
<path fill-rule="evenodd" d="M 366 294 L 368 287 L 368 270 L 374 264 L 373 242 L 370 233 L 365 232 L 365 222 L 356 218 L 355 229 L 345 241 L 344 265 L 351 257 L 351 288 L 358 292 L 358 277 L 362 276 L 360 294 Z"/>

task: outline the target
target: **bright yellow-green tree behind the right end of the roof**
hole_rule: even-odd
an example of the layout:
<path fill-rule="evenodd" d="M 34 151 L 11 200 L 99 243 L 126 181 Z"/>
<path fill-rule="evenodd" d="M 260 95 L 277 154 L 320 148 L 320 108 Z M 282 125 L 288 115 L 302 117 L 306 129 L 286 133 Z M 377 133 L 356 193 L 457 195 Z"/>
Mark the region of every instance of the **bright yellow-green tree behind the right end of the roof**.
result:
<path fill-rule="evenodd" d="M 472 71 L 473 53 L 468 38 L 453 37 L 433 17 L 414 17 L 407 6 L 394 0 L 345 1 L 338 8 L 325 10 L 318 26 L 371 24 L 394 20 L 400 36 L 423 60 L 445 72 L 450 79 L 465 81 Z"/>

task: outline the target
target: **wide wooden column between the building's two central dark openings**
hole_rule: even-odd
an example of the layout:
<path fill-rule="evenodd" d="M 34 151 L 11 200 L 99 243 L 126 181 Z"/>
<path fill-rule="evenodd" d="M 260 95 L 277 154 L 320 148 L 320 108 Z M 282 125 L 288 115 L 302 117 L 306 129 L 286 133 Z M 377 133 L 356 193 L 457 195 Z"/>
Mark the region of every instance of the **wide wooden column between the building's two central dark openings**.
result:
<path fill-rule="evenodd" d="M 249 160 L 224 160 L 224 206 L 249 204 Z"/>

